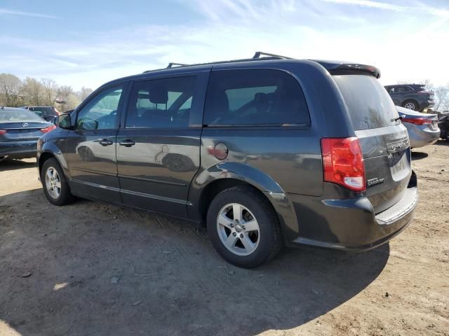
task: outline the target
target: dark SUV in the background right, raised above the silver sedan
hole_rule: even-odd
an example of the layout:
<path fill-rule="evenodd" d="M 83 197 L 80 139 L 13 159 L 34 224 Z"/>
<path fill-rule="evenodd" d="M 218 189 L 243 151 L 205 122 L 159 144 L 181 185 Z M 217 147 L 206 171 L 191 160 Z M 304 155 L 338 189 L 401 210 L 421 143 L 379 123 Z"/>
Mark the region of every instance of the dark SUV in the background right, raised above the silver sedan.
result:
<path fill-rule="evenodd" d="M 413 111 L 422 111 L 434 106 L 434 92 L 421 84 L 387 85 L 385 89 L 396 106 Z"/>

